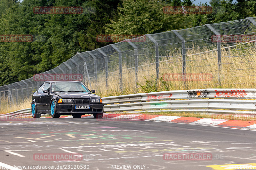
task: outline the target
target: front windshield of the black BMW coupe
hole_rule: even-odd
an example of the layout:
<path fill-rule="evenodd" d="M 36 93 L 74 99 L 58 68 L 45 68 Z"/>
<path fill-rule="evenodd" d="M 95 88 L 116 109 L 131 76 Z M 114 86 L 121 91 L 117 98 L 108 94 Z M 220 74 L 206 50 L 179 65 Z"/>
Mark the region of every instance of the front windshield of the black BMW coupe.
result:
<path fill-rule="evenodd" d="M 90 90 L 80 82 L 53 82 L 52 92 L 90 92 Z"/>

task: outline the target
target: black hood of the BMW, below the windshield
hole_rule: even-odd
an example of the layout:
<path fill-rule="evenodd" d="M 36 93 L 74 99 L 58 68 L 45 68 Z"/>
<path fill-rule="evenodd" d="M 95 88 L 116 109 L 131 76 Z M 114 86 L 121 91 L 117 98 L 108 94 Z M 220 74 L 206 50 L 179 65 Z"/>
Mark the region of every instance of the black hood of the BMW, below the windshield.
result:
<path fill-rule="evenodd" d="M 94 98 L 94 99 L 100 99 L 100 96 L 94 95 L 92 93 L 84 93 L 84 92 L 56 92 L 53 93 L 55 95 L 60 96 L 61 98 Z"/>

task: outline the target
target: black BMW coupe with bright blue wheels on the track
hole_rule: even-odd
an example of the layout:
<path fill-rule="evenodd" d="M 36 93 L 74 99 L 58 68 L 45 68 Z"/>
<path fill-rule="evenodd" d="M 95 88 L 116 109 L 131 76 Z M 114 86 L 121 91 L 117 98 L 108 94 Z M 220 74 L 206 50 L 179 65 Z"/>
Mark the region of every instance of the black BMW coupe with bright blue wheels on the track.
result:
<path fill-rule="evenodd" d="M 103 103 L 100 96 L 90 91 L 80 81 L 45 81 L 32 96 L 32 117 L 51 114 L 72 115 L 81 118 L 84 114 L 93 114 L 94 118 L 103 116 Z"/>

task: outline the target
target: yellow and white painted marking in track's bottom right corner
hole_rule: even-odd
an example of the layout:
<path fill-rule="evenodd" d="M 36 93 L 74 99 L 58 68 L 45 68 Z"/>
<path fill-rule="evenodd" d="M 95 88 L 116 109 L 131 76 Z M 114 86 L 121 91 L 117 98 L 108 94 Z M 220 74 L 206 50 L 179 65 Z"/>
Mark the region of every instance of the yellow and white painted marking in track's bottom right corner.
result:
<path fill-rule="evenodd" d="M 256 169 L 256 164 L 248 163 L 248 164 L 208 165 L 206 167 L 213 168 L 214 170 Z"/>

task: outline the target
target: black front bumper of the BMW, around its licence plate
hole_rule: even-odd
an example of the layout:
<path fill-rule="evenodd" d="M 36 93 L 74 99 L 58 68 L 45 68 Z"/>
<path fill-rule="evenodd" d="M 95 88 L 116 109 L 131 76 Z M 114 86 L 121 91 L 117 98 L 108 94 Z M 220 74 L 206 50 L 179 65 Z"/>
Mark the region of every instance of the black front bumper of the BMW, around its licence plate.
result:
<path fill-rule="evenodd" d="M 90 105 L 90 109 L 75 109 L 75 105 Z M 71 115 L 71 114 L 93 114 L 93 113 L 103 113 L 102 103 L 97 104 L 75 104 L 75 103 L 56 103 L 56 113 L 61 115 Z"/>

